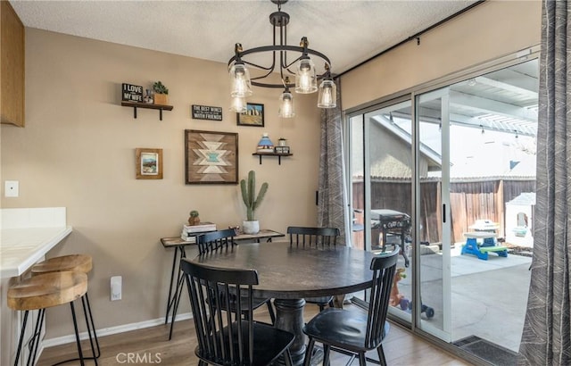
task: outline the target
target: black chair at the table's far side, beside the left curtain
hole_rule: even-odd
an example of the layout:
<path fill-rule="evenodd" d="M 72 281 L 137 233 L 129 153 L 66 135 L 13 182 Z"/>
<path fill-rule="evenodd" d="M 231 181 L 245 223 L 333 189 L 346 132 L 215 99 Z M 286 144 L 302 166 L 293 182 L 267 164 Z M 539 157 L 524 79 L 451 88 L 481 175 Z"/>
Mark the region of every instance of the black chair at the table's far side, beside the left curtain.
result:
<path fill-rule="evenodd" d="M 297 247 L 327 247 L 337 245 L 337 237 L 340 231 L 337 228 L 312 228 L 302 226 L 290 226 L 287 228 L 289 244 Z M 333 307 L 333 296 L 307 297 L 305 302 L 317 304 L 319 312 L 327 305 Z"/>

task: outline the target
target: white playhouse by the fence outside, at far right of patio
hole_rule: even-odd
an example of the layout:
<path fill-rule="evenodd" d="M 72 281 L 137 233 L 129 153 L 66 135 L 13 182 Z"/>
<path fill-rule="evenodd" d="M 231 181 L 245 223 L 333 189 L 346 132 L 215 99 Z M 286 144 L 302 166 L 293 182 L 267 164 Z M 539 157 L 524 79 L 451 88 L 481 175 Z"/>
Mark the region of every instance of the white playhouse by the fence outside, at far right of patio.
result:
<path fill-rule="evenodd" d="M 534 209 L 534 192 L 524 192 L 506 203 L 506 242 L 534 246 Z"/>

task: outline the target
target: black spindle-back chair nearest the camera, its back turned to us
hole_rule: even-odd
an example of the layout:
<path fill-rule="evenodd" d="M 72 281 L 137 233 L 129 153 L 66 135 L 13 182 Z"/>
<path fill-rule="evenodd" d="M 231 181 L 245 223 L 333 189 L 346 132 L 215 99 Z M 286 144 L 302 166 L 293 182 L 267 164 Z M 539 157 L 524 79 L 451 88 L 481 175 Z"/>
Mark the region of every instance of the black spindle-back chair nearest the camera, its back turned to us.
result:
<path fill-rule="evenodd" d="M 256 270 L 212 267 L 186 258 L 180 266 L 190 295 L 199 365 L 269 365 L 280 357 L 292 365 L 294 334 L 242 316 L 252 312 Z M 232 295 L 245 301 L 231 302 Z"/>

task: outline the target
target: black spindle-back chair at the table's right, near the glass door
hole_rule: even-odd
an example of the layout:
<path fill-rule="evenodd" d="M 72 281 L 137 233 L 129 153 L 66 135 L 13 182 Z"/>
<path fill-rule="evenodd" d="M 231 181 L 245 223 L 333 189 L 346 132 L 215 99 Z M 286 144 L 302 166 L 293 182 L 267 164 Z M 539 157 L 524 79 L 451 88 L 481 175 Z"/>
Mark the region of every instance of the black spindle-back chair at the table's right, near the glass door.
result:
<path fill-rule="evenodd" d="M 383 340 L 389 331 L 386 314 L 398 255 L 399 250 L 395 250 L 379 254 L 371 261 L 373 279 L 368 312 L 359 309 L 326 309 L 303 327 L 303 333 L 310 338 L 303 363 L 305 366 L 310 365 L 315 342 L 323 344 L 324 366 L 329 365 L 332 348 L 358 355 L 360 366 L 367 364 L 365 353 L 377 349 L 379 363 L 386 365 Z"/>

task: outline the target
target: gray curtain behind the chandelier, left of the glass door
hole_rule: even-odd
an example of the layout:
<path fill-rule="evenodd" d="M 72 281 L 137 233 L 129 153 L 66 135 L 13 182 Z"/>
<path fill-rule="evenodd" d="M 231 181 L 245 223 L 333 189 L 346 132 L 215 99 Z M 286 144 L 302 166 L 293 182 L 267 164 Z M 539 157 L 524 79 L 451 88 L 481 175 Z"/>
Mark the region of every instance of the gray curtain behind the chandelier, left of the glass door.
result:
<path fill-rule="evenodd" d="M 337 106 L 321 110 L 321 154 L 319 156 L 319 199 L 318 225 L 339 228 L 338 244 L 349 244 L 346 240 L 345 208 L 347 195 L 344 188 L 343 124 L 341 118 L 341 87 L 337 87 Z"/>

